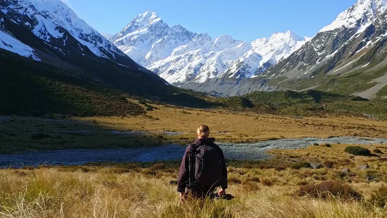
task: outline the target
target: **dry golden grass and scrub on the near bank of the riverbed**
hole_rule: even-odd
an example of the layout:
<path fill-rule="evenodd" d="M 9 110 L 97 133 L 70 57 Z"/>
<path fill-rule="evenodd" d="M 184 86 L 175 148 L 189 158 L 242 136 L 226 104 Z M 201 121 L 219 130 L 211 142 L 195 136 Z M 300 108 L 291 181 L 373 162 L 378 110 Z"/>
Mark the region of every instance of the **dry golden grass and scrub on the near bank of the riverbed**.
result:
<path fill-rule="evenodd" d="M 176 186 L 168 185 L 176 179 L 177 162 L 0 170 L 0 216 L 387 217 L 387 162 L 376 156 L 350 156 L 344 152 L 345 146 L 275 150 L 269 161 L 230 162 L 227 191 L 235 199 L 180 205 Z M 323 154 L 325 149 L 332 153 Z M 290 167 L 294 160 L 289 158 L 295 153 L 300 162 L 337 159 L 332 169 L 295 170 Z M 278 158 L 283 164 L 281 171 L 259 167 L 276 166 Z M 368 170 L 357 168 L 364 163 L 370 166 Z M 351 172 L 343 174 L 342 168 Z M 377 181 L 367 181 L 371 175 Z M 327 180 L 337 182 L 318 186 Z M 300 187 L 321 188 L 298 196 L 304 190 Z M 354 199 L 352 190 L 362 198 Z M 343 198 L 343 193 L 349 195 Z"/>

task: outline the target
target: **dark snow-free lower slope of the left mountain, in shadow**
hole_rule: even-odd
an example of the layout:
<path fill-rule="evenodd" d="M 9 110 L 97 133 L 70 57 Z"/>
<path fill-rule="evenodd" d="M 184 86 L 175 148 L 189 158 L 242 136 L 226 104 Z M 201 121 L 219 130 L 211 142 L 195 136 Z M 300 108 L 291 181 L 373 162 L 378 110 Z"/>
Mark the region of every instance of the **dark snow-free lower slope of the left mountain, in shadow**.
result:
<path fill-rule="evenodd" d="M 90 75 L 90 69 L 58 68 L 5 50 L 0 51 L 0 65 L 3 66 L 0 68 L 0 114 L 134 116 L 145 113 L 141 106 L 127 100 L 133 95 L 171 104 L 209 106 L 197 97 L 200 93 L 167 86 L 155 81 L 154 76 L 123 72 L 114 66 L 104 72 L 104 77 L 111 78 L 101 79 Z"/>

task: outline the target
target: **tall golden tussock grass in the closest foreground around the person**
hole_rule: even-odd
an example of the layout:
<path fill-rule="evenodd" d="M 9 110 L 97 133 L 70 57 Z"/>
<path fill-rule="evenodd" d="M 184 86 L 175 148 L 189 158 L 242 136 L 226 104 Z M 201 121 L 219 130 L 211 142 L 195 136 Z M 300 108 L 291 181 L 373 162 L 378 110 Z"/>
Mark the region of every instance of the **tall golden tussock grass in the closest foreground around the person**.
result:
<path fill-rule="evenodd" d="M 343 201 L 291 194 L 294 187 L 251 182 L 232 185 L 231 201 L 192 200 L 178 205 L 171 179 L 139 173 L 58 172 L 40 169 L 20 176 L 0 172 L 2 217 L 386 217 L 362 200 Z M 372 189 L 372 187 L 370 187 Z"/>

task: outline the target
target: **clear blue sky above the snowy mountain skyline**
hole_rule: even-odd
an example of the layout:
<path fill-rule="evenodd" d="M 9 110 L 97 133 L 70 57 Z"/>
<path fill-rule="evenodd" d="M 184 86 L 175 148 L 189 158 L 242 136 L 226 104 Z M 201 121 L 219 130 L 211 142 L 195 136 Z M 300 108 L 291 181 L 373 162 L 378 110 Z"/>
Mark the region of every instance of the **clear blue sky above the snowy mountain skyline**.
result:
<path fill-rule="evenodd" d="M 169 26 L 252 41 L 291 30 L 313 36 L 355 0 L 62 0 L 100 32 L 117 33 L 134 17 L 156 12 Z"/>

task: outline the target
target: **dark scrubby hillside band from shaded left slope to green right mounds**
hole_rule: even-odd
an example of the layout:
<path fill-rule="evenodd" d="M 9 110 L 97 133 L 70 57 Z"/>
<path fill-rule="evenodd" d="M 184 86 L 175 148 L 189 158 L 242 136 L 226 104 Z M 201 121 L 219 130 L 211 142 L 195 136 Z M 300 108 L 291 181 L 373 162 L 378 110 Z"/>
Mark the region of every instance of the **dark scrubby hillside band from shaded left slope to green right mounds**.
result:
<path fill-rule="evenodd" d="M 155 75 L 133 72 L 119 65 L 93 62 L 87 69 L 85 65 L 59 67 L 5 50 L 0 51 L 0 64 L 4 66 L 0 69 L 0 114 L 136 116 L 145 113 L 144 108 L 128 100 L 136 96 L 188 107 L 221 107 L 291 116 L 329 113 L 387 119 L 383 95 L 366 101 L 360 97 L 308 90 L 252 92 L 216 98 L 165 85 Z"/>

